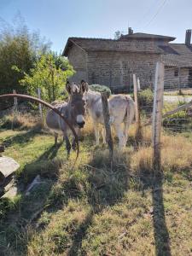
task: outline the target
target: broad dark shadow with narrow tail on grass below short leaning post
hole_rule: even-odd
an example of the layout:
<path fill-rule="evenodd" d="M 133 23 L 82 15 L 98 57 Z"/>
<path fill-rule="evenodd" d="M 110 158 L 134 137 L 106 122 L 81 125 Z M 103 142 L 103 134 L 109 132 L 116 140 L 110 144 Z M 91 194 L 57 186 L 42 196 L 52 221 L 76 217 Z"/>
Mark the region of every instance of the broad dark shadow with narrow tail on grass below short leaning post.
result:
<path fill-rule="evenodd" d="M 113 206 L 117 201 L 125 195 L 129 187 L 129 179 L 126 165 L 121 160 L 114 160 L 113 164 L 105 154 L 97 152 L 96 157 L 90 161 L 90 175 L 88 181 L 90 183 L 90 191 L 88 193 L 88 202 L 90 204 L 90 212 L 79 225 L 73 234 L 73 243 L 69 248 L 67 255 L 79 255 L 82 248 L 82 241 L 87 234 L 87 230 L 93 222 L 96 214 L 101 213 L 106 207 Z M 86 252 L 83 252 L 84 255 Z"/>

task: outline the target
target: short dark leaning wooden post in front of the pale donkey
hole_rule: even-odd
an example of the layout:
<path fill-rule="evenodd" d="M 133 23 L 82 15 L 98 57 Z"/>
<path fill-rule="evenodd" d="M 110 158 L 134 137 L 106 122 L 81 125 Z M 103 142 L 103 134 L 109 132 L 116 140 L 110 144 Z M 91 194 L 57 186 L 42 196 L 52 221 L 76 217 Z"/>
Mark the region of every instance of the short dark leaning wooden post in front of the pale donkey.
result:
<path fill-rule="evenodd" d="M 108 110 L 108 94 L 103 92 L 102 95 L 102 113 L 104 117 L 106 141 L 108 143 L 110 159 L 113 161 L 113 138 L 111 134 L 111 126 L 109 124 L 110 115 Z"/>

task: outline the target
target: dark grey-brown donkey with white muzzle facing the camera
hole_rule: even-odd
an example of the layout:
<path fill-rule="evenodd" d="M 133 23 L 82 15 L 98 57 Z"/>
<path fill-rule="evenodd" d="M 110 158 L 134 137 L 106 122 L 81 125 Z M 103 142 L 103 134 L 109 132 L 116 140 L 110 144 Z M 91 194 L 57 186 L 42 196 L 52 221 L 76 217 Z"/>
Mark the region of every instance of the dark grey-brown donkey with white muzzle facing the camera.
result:
<path fill-rule="evenodd" d="M 63 114 L 70 125 L 73 125 L 73 128 L 78 133 L 79 129 L 83 128 L 85 124 L 84 92 L 88 90 L 88 87 L 84 82 L 81 84 L 70 84 L 67 82 L 66 89 L 70 96 L 69 101 L 56 104 L 55 108 L 57 108 Z M 71 151 L 71 144 L 69 142 L 68 136 L 71 130 L 69 129 L 68 125 L 53 110 L 50 110 L 47 113 L 46 124 L 48 125 L 49 129 L 55 133 L 55 144 L 57 143 L 58 135 L 61 134 L 63 136 L 66 141 L 67 154 L 69 155 Z M 74 138 L 72 148 L 76 148 Z"/>

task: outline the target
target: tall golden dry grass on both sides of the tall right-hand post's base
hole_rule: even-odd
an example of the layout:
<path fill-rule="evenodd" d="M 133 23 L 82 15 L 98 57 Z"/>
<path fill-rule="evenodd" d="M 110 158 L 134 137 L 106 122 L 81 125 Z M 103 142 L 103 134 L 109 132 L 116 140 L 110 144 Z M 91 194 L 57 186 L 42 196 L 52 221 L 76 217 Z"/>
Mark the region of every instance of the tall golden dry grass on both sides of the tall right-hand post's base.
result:
<path fill-rule="evenodd" d="M 149 131 L 145 139 L 149 139 Z M 164 172 L 182 172 L 192 170 L 192 150 L 191 141 L 181 135 L 161 136 L 161 164 Z M 151 146 L 141 146 L 132 155 L 131 168 L 135 172 L 151 172 L 152 170 Z"/>

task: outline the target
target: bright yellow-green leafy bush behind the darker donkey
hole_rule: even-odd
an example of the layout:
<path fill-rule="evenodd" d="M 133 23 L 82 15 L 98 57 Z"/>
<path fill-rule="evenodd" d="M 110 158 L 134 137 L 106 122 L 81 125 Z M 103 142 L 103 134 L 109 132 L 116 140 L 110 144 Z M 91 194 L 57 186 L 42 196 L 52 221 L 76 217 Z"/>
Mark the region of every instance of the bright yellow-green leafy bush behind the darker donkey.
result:
<path fill-rule="evenodd" d="M 49 52 L 39 56 L 30 74 L 26 73 L 20 80 L 20 84 L 33 96 L 37 96 L 37 90 L 40 88 L 42 99 L 54 102 L 61 97 L 62 92 L 64 95 L 67 94 L 64 84 L 73 73 L 73 67 L 66 59 L 54 52 Z"/>

